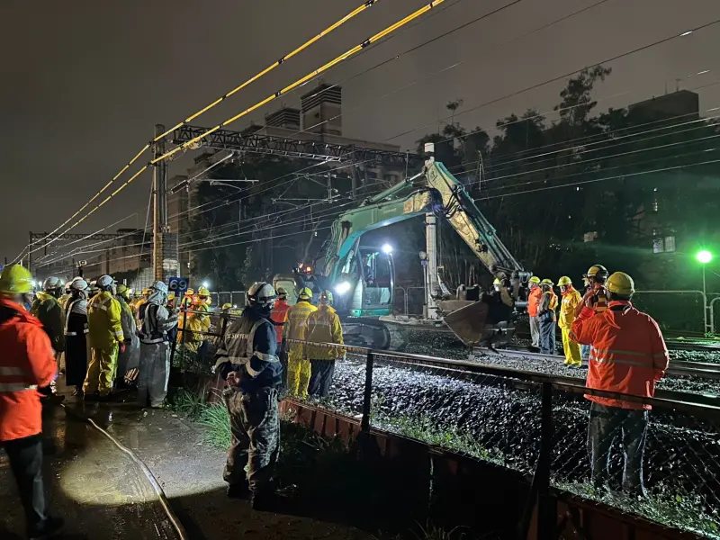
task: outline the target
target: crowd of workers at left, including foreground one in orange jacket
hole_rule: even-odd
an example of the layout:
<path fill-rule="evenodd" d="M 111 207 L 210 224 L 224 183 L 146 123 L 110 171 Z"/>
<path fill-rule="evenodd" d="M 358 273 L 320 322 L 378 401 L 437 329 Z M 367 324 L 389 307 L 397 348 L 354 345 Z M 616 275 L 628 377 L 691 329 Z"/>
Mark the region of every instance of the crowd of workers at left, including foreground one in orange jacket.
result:
<path fill-rule="evenodd" d="M 110 275 L 88 284 L 76 277 L 65 287 L 48 277 L 34 291 L 23 266 L 0 275 L 0 445 L 18 485 L 28 537 L 44 538 L 62 526 L 50 516 L 41 473 L 41 410 L 61 401 L 64 379 L 85 401 L 111 401 L 115 390 L 137 384 L 143 406 L 165 401 L 170 368 L 167 285 L 156 282 L 141 302 Z"/>

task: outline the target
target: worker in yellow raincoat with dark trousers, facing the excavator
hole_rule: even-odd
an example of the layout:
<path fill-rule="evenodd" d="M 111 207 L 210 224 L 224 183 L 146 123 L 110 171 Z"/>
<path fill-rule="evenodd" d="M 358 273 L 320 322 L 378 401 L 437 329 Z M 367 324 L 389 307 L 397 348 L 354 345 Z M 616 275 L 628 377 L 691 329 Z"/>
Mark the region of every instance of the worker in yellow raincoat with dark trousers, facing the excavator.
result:
<path fill-rule="evenodd" d="M 320 398 L 330 393 L 330 384 L 335 374 L 335 361 L 345 356 L 345 347 L 333 347 L 324 344 L 342 346 L 343 328 L 338 313 L 330 307 L 332 293 L 320 293 L 318 310 L 308 316 L 305 340 L 323 345 L 306 344 L 304 356 L 310 359 L 311 378 L 308 393 Z"/>

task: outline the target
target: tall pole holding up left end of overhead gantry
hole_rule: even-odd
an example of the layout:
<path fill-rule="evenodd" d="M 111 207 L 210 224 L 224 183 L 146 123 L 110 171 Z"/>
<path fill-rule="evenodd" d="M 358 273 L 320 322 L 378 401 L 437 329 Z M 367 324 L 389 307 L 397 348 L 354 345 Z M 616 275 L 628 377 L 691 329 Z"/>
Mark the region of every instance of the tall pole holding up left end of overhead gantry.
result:
<path fill-rule="evenodd" d="M 165 133 L 165 126 L 156 124 L 155 136 Z M 159 139 L 152 145 L 153 158 L 165 154 L 165 139 Z M 152 169 L 153 193 L 153 241 L 152 266 L 156 281 L 166 281 L 172 273 L 177 272 L 177 238 L 170 235 L 167 226 L 167 163 L 158 161 Z"/>

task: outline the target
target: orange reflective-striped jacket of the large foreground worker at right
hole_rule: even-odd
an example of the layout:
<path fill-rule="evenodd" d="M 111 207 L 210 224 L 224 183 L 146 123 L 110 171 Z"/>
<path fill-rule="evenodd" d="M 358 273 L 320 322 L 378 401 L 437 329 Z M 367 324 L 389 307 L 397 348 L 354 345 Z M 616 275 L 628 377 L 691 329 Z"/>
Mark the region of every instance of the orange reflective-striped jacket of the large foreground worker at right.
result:
<path fill-rule="evenodd" d="M 652 398 L 668 368 L 668 348 L 657 322 L 630 302 L 610 302 L 608 310 L 572 323 L 570 337 L 590 345 L 588 388 Z M 651 409 L 650 405 L 586 396 L 609 407 Z"/>

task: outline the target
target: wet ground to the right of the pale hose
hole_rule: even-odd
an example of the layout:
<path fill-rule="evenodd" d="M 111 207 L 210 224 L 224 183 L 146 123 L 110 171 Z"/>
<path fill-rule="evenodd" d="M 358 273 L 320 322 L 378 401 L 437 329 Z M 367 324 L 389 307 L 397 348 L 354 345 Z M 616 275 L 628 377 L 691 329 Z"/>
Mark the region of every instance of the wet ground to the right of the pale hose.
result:
<path fill-rule="evenodd" d="M 333 522 L 323 509 L 301 509 L 290 501 L 279 512 L 256 512 L 247 500 L 228 499 L 222 481 L 225 453 L 204 442 L 197 426 L 170 410 L 140 410 L 131 401 L 113 405 L 71 401 L 70 406 L 94 419 L 148 465 L 193 540 L 245 535 L 254 540 L 373 537 Z"/>

